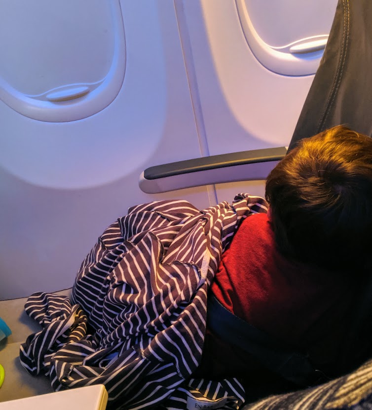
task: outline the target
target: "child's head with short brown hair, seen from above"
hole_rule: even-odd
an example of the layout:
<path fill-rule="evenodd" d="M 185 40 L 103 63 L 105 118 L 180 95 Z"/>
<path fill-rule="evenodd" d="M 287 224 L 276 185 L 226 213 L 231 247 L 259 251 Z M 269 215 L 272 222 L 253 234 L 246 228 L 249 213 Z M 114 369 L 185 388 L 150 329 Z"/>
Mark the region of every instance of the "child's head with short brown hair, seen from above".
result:
<path fill-rule="evenodd" d="M 269 174 L 266 199 L 284 255 L 372 269 L 372 138 L 337 126 L 301 140 Z"/>

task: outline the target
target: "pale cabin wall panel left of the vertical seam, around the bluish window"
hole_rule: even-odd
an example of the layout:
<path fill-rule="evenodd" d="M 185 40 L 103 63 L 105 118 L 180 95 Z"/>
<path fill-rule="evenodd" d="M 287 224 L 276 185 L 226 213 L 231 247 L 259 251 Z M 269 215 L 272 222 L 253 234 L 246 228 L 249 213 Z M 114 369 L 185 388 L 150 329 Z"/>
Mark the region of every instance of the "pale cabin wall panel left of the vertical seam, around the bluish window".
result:
<path fill-rule="evenodd" d="M 200 145 L 173 1 L 120 6 L 125 76 L 105 109 L 50 122 L 0 101 L 2 299 L 72 286 L 98 236 L 132 205 L 167 198 L 210 205 L 206 187 L 158 195 L 138 187 L 143 169 L 200 157 Z"/>

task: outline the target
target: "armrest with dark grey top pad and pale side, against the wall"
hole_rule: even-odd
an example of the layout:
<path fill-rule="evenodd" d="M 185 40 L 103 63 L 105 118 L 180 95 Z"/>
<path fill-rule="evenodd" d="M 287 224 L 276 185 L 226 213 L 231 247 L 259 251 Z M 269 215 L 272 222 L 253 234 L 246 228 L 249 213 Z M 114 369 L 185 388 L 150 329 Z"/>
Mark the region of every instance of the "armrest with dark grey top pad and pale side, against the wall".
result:
<path fill-rule="evenodd" d="M 223 182 L 265 180 L 287 153 L 287 147 L 212 155 L 147 168 L 140 188 L 147 193 Z"/>

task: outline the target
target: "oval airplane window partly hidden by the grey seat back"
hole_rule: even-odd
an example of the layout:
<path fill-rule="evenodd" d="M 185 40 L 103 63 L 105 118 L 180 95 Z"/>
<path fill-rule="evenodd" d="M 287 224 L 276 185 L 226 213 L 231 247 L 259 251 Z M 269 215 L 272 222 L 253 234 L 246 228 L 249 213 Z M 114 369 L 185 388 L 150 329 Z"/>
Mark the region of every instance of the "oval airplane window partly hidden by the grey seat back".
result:
<path fill-rule="evenodd" d="M 327 44 L 337 0 L 236 0 L 244 36 L 260 63 L 278 74 L 314 74 Z"/>

